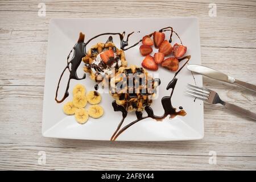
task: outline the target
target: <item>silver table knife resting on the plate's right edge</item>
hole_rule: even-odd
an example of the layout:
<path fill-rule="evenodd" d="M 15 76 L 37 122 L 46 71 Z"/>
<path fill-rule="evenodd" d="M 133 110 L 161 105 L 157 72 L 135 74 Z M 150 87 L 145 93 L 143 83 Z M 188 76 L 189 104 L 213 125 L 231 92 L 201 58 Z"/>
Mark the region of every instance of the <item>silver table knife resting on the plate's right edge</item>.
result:
<path fill-rule="evenodd" d="M 256 85 L 237 80 L 236 78 L 228 76 L 225 73 L 219 72 L 215 69 L 205 67 L 202 65 L 197 65 L 197 64 L 190 64 L 187 66 L 187 68 L 189 71 L 199 73 L 200 75 L 204 75 L 204 76 L 216 79 L 216 80 L 228 82 L 230 84 L 236 84 L 238 86 L 242 86 L 243 88 L 246 88 L 248 90 L 252 90 L 252 91 L 256 92 Z"/>

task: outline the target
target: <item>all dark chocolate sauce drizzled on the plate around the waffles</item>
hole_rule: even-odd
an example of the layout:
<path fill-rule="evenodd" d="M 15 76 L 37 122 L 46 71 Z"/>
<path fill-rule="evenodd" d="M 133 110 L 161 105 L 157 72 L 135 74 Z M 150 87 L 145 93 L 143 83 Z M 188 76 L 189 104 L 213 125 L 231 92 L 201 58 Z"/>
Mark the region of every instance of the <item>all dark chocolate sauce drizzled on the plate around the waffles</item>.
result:
<path fill-rule="evenodd" d="M 179 37 L 179 35 L 173 30 L 172 27 L 166 27 L 166 28 L 162 28 L 159 30 L 159 32 L 163 32 L 163 31 L 171 31 L 171 35 L 170 35 L 170 39 L 169 39 L 169 42 L 171 43 L 172 42 L 172 34 L 173 32 L 177 35 L 177 37 L 179 38 L 180 40 L 180 43 L 182 44 L 181 42 L 181 39 Z M 87 44 L 92 41 L 93 39 L 96 39 L 98 38 L 99 36 L 102 36 L 102 35 L 119 35 L 119 39 L 120 39 L 120 42 L 121 42 L 121 45 L 120 45 L 120 48 L 123 50 L 123 51 L 126 51 L 127 49 L 130 49 L 134 46 L 137 46 L 140 42 L 142 42 L 142 40 L 139 40 L 137 43 L 133 44 L 132 46 L 130 47 L 127 47 L 128 46 L 128 41 L 129 41 L 129 36 L 132 35 L 134 32 L 131 32 L 130 34 L 127 35 L 127 38 L 126 40 L 124 40 L 124 36 L 125 36 L 125 31 L 121 34 L 121 33 L 103 33 L 103 34 L 99 34 L 99 35 L 96 35 L 94 36 L 93 38 L 89 39 L 86 43 L 84 43 L 84 39 L 85 39 L 85 35 L 82 34 L 80 32 L 80 35 L 79 35 L 79 40 L 77 41 L 77 43 L 75 44 L 75 46 L 73 47 L 73 50 L 74 53 L 73 53 L 73 57 L 71 59 L 71 61 L 69 61 L 69 56 L 71 55 L 72 51 L 69 53 L 68 57 L 67 57 L 67 66 L 64 68 L 63 72 L 61 73 L 60 75 L 60 78 L 59 78 L 59 81 L 58 81 L 58 84 L 57 84 L 57 89 L 56 89 L 56 94 L 55 94 L 55 100 L 57 103 L 61 103 L 65 100 L 65 98 L 67 98 L 69 96 L 69 92 L 68 92 L 68 89 L 69 89 L 69 84 L 70 84 L 70 81 L 72 79 L 75 79 L 75 80 L 82 80 L 86 77 L 86 75 L 84 74 L 84 76 L 82 76 L 81 78 L 79 78 L 77 76 L 77 68 L 79 68 L 79 65 L 81 64 L 81 61 L 82 61 L 82 57 L 84 57 L 86 55 L 86 46 Z M 152 36 L 153 33 L 151 34 L 148 34 L 148 36 Z M 109 36 L 109 39 L 107 42 L 109 41 L 113 41 L 113 38 L 112 36 Z M 127 47 L 127 48 L 126 48 Z M 146 119 L 146 118 L 153 118 L 153 119 L 156 119 L 156 120 L 162 120 L 164 118 L 167 117 L 167 115 L 170 115 L 170 118 L 174 118 L 176 115 L 185 115 L 185 111 L 183 109 L 179 110 L 179 111 L 176 111 L 176 108 L 172 106 L 172 102 L 171 102 L 171 97 L 172 97 L 172 94 L 174 93 L 174 89 L 175 89 L 175 86 L 176 86 L 176 83 L 177 83 L 177 74 L 180 72 L 180 70 L 185 66 L 185 64 L 188 63 L 189 59 L 191 58 L 191 56 L 185 56 L 181 59 L 179 59 L 179 61 L 182 61 L 184 59 L 187 59 L 187 61 L 183 64 L 183 66 L 175 73 L 175 76 L 174 78 L 169 82 L 169 84 L 167 85 L 167 90 L 169 89 L 172 89 L 171 90 L 171 94 L 170 96 L 165 96 L 162 98 L 161 102 L 162 102 L 162 106 L 163 106 L 163 110 L 164 110 L 164 113 L 163 115 L 161 116 L 158 116 L 158 115 L 155 115 L 154 114 L 154 111 L 152 110 L 152 108 L 150 106 L 146 106 L 144 109 L 147 113 L 147 116 L 143 117 L 142 115 L 142 112 L 139 112 L 139 111 L 136 111 L 136 116 L 137 116 L 137 119 L 131 123 L 129 123 L 129 125 L 126 125 L 125 127 L 123 127 L 121 130 L 119 130 L 122 126 L 122 123 L 123 121 L 125 120 L 125 118 L 127 117 L 127 110 L 125 109 L 125 107 L 123 106 L 119 106 L 117 105 L 117 103 L 115 101 L 112 102 L 112 106 L 114 108 L 114 111 L 121 111 L 122 112 L 122 119 L 121 119 L 121 122 L 119 123 L 117 129 L 115 130 L 114 134 L 112 135 L 112 138 L 110 140 L 115 140 L 117 139 L 117 137 L 123 133 L 123 131 L 125 131 L 126 129 L 128 129 L 130 126 L 134 125 L 135 123 L 139 122 L 139 121 L 142 121 L 143 119 Z M 71 64 L 71 67 L 69 67 L 69 65 Z M 64 93 L 64 96 L 61 98 L 61 100 L 58 100 L 57 99 L 57 96 L 58 96 L 58 91 L 59 91 L 59 86 L 60 86 L 60 81 L 61 81 L 61 78 L 63 77 L 64 75 L 64 72 L 68 69 L 69 71 L 69 79 L 68 79 L 68 82 L 67 82 L 67 86 L 66 86 L 66 89 L 65 89 L 65 93 Z M 159 80 L 160 82 L 160 80 Z M 96 85 L 95 87 L 95 90 L 98 89 L 98 85 Z M 182 108 L 182 107 L 180 107 Z M 118 131 L 119 130 L 119 131 Z"/>

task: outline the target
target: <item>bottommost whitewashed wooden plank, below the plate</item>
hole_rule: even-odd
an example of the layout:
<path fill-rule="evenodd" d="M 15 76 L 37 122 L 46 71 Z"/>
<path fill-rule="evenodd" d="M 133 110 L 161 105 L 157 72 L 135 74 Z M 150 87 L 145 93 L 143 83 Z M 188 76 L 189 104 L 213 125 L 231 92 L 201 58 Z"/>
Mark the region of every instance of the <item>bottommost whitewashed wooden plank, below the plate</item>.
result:
<path fill-rule="evenodd" d="M 129 154 L 118 151 L 91 154 L 83 149 L 37 146 L 1 146 L 0 169 L 36 170 L 205 170 L 255 169 L 256 157 L 217 156 L 217 164 L 209 164 L 210 156 Z M 38 164 L 38 152 L 46 152 L 46 164 Z"/>

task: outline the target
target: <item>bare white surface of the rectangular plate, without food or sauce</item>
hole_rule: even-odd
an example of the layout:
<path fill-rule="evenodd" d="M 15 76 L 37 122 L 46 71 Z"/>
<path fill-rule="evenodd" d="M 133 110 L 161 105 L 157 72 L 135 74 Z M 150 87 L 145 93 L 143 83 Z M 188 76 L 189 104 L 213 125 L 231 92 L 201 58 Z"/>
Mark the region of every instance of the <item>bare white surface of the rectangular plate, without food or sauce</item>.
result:
<path fill-rule="evenodd" d="M 72 88 L 77 83 L 85 85 L 86 90 L 94 90 L 96 84 L 88 75 L 85 80 L 71 80 L 69 88 L 69 97 L 61 104 L 55 101 L 55 91 L 57 81 L 63 69 L 67 64 L 67 55 L 77 42 L 79 32 L 85 34 L 85 42 L 95 35 L 103 32 L 123 32 L 126 35 L 129 32 L 134 34 L 129 38 L 129 45 L 140 40 L 144 35 L 157 31 L 160 28 L 171 26 L 179 34 L 183 44 L 187 46 L 186 55 L 191 55 L 189 64 L 201 64 L 200 55 L 200 34 L 199 23 L 196 18 L 159 18 L 159 19 L 51 19 L 49 26 L 48 51 L 46 62 L 46 80 L 44 86 L 44 104 L 43 104 L 43 124 L 42 134 L 44 137 L 52 138 L 69 138 L 69 139 L 90 139 L 90 140 L 110 140 L 110 137 L 117 128 L 122 118 L 121 112 L 115 112 L 112 108 L 113 98 L 108 93 L 102 94 L 101 106 L 104 107 L 105 113 L 101 118 L 89 118 L 88 122 L 80 125 L 76 122 L 73 115 L 68 116 L 63 113 L 65 102 L 72 100 Z M 168 34 L 167 34 L 168 36 Z M 179 43 L 177 37 L 172 36 L 172 45 Z M 90 48 L 97 42 L 106 42 L 108 35 L 101 36 L 87 46 Z M 119 47 L 119 38 L 113 36 L 113 41 Z M 135 64 L 140 66 L 143 57 L 139 53 L 139 46 L 135 46 L 127 51 L 126 60 L 128 65 Z M 154 52 L 154 51 L 153 51 Z M 180 66 L 185 62 L 181 61 Z M 77 70 L 79 77 L 84 72 L 81 63 Z M 159 97 L 153 101 L 152 108 L 156 115 L 163 114 L 161 98 L 170 96 L 171 90 L 166 90 L 168 82 L 174 77 L 174 72 L 159 68 L 161 84 L 159 86 Z M 62 80 L 68 79 L 68 74 L 64 75 Z M 203 102 L 200 100 L 193 101 L 192 97 L 185 94 L 185 88 L 188 83 L 202 85 L 202 77 L 195 75 L 193 80 L 191 72 L 184 67 L 177 76 L 177 85 L 172 96 L 172 105 L 179 108 L 182 106 L 187 112 L 185 117 L 177 116 L 173 119 L 166 117 L 161 122 L 154 119 L 144 119 L 131 126 L 122 133 L 117 140 L 131 141 L 156 141 L 156 140 L 191 140 L 201 139 L 204 136 L 204 111 Z M 66 82 L 61 81 L 59 96 L 64 94 Z M 89 105 L 89 104 L 88 104 Z M 88 108 L 86 105 L 86 108 Z M 143 112 L 143 115 L 146 113 Z M 135 113 L 129 113 L 123 126 L 136 119 Z"/>

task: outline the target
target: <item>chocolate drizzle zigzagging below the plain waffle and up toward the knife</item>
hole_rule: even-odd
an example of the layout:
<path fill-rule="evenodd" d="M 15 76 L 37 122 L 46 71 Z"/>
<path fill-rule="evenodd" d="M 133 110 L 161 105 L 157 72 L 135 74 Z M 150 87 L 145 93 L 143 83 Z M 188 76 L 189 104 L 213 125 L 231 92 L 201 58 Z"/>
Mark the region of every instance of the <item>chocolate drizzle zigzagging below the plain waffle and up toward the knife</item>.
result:
<path fill-rule="evenodd" d="M 142 119 L 146 119 L 146 118 L 152 118 L 152 119 L 156 119 L 156 121 L 161 121 L 162 119 L 166 118 L 167 115 L 170 115 L 170 118 L 174 118 L 176 115 L 186 115 L 187 113 L 185 112 L 185 110 L 181 109 L 179 111 L 176 111 L 176 108 L 174 106 L 172 106 L 172 102 L 171 102 L 171 97 L 172 94 L 174 93 L 174 89 L 177 83 L 177 74 L 181 71 L 181 69 L 188 63 L 188 61 L 191 59 L 191 56 L 185 56 L 181 59 L 179 59 L 179 61 L 182 61 L 184 59 L 187 59 L 187 61 L 183 64 L 183 66 L 175 73 L 174 78 L 172 78 L 172 80 L 169 82 L 169 84 L 167 85 L 167 90 L 172 89 L 170 96 L 164 96 L 161 100 L 162 102 L 162 106 L 164 109 L 164 114 L 161 116 L 155 115 L 153 109 L 150 106 L 146 106 L 144 109 L 147 113 L 147 116 L 143 117 L 142 116 L 142 112 L 136 111 L 136 116 L 137 119 L 133 122 L 130 122 L 128 125 L 124 126 L 121 130 L 119 130 L 122 126 L 123 121 L 125 120 L 126 116 L 127 116 L 127 110 L 123 107 L 123 106 L 119 106 L 117 105 L 117 103 L 115 101 L 112 102 L 112 106 L 114 108 L 114 111 L 121 111 L 122 112 L 122 120 L 119 123 L 117 129 L 115 130 L 114 134 L 112 135 L 110 140 L 115 140 L 117 139 L 117 137 L 123 133 L 123 131 L 125 131 L 126 129 L 128 129 L 129 127 L 133 126 L 135 123 L 142 121 Z M 119 130 L 119 131 L 118 131 Z"/>

